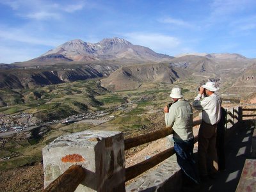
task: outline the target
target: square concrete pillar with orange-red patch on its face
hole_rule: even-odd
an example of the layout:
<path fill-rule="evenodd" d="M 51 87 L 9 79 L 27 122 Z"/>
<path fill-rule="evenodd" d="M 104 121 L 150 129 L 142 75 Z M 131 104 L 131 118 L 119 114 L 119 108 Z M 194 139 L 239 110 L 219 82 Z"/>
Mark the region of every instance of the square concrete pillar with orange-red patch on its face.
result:
<path fill-rule="evenodd" d="M 124 135 L 83 131 L 61 136 L 43 148 L 45 188 L 72 164 L 86 177 L 76 191 L 125 191 Z"/>

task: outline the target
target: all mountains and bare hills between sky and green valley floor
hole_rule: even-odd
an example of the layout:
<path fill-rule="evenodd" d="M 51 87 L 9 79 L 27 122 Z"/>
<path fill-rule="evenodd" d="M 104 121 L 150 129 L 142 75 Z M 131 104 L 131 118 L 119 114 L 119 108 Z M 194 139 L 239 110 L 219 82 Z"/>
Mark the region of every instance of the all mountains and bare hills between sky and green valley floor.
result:
<path fill-rule="evenodd" d="M 0 88 L 31 88 L 95 77 L 108 77 L 102 80 L 102 86 L 112 90 L 138 88 L 151 81 L 173 83 L 188 76 L 233 76 L 239 77 L 239 82 L 251 76 L 249 80 L 254 77 L 254 82 L 255 70 L 250 71 L 255 63 L 256 60 L 230 53 L 172 57 L 117 37 L 96 44 L 71 40 L 33 60 L 0 64 Z"/>

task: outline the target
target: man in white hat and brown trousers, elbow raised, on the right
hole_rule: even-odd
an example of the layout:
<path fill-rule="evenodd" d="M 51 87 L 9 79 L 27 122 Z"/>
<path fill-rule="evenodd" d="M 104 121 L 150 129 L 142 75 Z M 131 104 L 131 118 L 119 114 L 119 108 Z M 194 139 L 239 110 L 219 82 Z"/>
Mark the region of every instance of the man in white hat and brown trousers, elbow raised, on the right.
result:
<path fill-rule="evenodd" d="M 219 88 L 214 82 L 207 82 L 200 87 L 193 107 L 202 110 L 202 124 L 198 132 L 198 166 L 201 180 L 214 179 L 218 172 L 216 153 L 216 129 L 221 117 L 221 99 L 215 93 Z M 204 99 L 200 100 L 202 95 Z M 210 164 L 207 166 L 207 159 Z M 209 173 L 207 172 L 209 170 Z"/>

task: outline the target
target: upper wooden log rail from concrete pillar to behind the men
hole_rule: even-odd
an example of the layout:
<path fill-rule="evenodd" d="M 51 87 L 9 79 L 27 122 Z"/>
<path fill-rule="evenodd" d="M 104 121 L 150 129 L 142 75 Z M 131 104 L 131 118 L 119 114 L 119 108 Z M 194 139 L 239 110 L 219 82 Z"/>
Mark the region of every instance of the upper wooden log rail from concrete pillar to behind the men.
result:
<path fill-rule="evenodd" d="M 193 126 L 199 125 L 202 123 L 202 120 L 196 120 L 193 122 Z M 137 147 L 139 145 L 143 145 L 145 143 L 156 141 L 161 138 L 168 136 L 169 134 L 173 134 L 172 127 L 166 127 L 164 129 L 160 129 L 158 131 L 150 132 L 148 134 L 143 134 L 140 136 L 136 136 L 134 138 L 128 138 L 124 140 L 124 149 L 127 150 L 132 147 Z"/>

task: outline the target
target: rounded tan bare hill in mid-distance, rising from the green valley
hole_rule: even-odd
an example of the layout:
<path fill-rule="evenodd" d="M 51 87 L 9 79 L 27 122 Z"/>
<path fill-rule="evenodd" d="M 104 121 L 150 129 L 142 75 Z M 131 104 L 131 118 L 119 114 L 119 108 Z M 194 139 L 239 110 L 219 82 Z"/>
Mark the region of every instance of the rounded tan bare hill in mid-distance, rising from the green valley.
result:
<path fill-rule="evenodd" d="M 134 90 L 141 83 L 173 83 L 188 74 L 182 68 L 174 68 L 170 64 L 133 65 L 119 68 L 103 79 L 101 86 L 108 90 Z"/>

